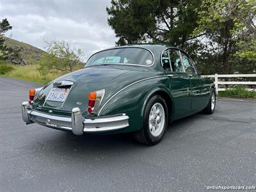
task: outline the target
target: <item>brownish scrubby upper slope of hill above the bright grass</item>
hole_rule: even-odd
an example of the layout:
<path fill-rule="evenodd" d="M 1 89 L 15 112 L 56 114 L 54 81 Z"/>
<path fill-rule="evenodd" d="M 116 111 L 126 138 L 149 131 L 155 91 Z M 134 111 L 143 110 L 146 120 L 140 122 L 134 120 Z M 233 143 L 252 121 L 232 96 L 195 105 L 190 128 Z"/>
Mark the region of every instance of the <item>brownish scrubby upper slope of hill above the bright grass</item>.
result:
<path fill-rule="evenodd" d="M 4 37 L 4 44 L 7 47 L 12 47 L 13 49 L 19 49 L 19 57 L 12 59 L 12 63 L 19 64 L 23 61 L 27 64 L 36 64 L 37 61 L 41 60 L 42 54 L 45 52 L 42 49 L 38 49 L 32 45 L 26 44 L 24 42 L 19 42 L 12 38 Z M 20 62 L 22 61 L 22 62 Z"/>

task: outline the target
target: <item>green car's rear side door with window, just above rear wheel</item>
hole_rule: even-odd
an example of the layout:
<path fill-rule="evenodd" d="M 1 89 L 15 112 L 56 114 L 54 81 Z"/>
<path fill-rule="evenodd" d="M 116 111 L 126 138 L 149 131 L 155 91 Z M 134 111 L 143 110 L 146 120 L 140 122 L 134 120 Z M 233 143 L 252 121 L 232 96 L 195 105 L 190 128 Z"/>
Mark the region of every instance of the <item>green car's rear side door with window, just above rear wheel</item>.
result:
<path fill-rule="evenodd" d="M 191 111 L 191 83 L 188 73 L 184 71 L 180 52 L 177 49 L 168 49 L 163 52 L 162 65 L 166 75 L 170 78 L 170 92 L 172 93 L 175 116 L 181 118 Z"/>

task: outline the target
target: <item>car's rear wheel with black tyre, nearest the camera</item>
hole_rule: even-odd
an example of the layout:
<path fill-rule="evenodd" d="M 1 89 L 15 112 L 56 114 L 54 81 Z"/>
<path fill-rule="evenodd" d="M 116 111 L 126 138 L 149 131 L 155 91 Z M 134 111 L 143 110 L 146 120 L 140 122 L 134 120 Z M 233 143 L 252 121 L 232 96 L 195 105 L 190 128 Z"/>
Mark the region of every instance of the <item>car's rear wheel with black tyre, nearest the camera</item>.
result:
<path fill-rule="evenodd" d="M 134 132 L 134 138 L 143 144 L 155 145 L 163 139 L 168 125 L 166 102 L 159 95 L 154 95 L 146 105 L 143 115 L 143 128 Z"/>

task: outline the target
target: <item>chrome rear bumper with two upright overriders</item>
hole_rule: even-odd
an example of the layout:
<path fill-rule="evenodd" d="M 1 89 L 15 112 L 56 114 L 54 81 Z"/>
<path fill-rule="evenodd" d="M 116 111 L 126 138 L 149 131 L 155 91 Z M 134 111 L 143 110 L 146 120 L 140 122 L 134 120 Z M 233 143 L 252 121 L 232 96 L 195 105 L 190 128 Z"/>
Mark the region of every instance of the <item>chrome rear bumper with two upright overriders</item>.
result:
<path fill-rule="evenodd" d="M 116 131 L 129 126 L 129 116 L 124 113 L 84 118 L 79 108 L 73 108 L 71 117 L 64 117 L 35 111 L 30 108 L 29 102 L 22 102 L 21 111 L 26 124 L 37 123 L 53 129 L 72 131 L 76 135 L 82 135 L 84 132 Z"/>

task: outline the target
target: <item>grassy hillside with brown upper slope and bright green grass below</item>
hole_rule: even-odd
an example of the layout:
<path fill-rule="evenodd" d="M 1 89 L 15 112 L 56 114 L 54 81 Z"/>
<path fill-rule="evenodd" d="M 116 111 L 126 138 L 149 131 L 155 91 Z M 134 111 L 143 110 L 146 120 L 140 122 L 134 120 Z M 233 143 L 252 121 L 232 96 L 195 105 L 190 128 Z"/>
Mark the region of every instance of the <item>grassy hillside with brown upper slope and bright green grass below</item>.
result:
<path fill-rule="evenodd" d="M 13 50 L 9 51 L 8 60 L 0 60 L 0 76 L 47 84 L 49 81 L 56 79 L 56 77 L 67 73 L 63 71 L 49 72 L 43 76 L 38 71 L 38 61 L 42 61 L 42 54 L 46 53 L 45 51 L 12 38 L 4 38 L 4 44 Z M 19 51 L 15 51 L 17 49 Z M 83 66 L 84 63 L 81 62 L 81 65 L 74 67 L 74 70 L 83 68 Z"/>

